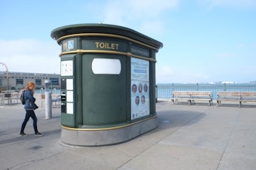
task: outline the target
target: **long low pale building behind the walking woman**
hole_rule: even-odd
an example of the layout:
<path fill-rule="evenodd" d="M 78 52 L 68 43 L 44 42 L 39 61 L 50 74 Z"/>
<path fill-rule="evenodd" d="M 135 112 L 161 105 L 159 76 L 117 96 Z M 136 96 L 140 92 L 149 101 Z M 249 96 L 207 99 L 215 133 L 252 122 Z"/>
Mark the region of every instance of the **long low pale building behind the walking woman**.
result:
<path fill-rule="evenodd" d="M 33 81 L 37 89 L 44 88 L 44 80 L 50 80 L 52 88 L 60 88 L 60 74 L 9 72 L 0 71 L 0 91 L 20 90 L 26 83 Z"/>

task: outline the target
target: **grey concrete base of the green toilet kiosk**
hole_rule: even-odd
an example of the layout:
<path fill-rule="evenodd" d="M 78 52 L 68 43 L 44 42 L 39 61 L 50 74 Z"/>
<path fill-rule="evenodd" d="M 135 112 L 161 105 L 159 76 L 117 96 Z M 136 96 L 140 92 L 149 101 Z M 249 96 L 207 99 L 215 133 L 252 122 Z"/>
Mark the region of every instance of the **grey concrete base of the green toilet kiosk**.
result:
<path fill-rule="evenodd" d="M 118 144 L 157 128 L 157 116 L 112 129 L 74 129 L 62 126 L 61 141 L 76 146 Z"/>

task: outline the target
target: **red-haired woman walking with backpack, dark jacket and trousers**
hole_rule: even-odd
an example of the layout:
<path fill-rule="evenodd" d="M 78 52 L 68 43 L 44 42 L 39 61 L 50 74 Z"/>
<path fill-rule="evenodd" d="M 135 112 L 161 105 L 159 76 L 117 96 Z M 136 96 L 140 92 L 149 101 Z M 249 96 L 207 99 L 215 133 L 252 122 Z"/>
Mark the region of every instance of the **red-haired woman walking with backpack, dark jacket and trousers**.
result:
<path fill-rule="evenodd" d="M 35 98 L 34 98 L 34 90 L 35 90 L 35 83 L 32 81 L 29 81 L 25 87 L 25 92 L 24 92 L 24 99 L 26 100 L 26 103 L 24 105 L 24 108 L 26 110 L 26 116 L 23 121 L 23 124 L 20 129 L 20 135 L 21 136 L 26 136 L 26 133 L 24 132 L 26 123 L 29 121 L 29 118 L 31 117 L 33 120 L 33 126 L 35 130 L 35 136 L 41 136 L 42 134 L 38 132 L 38 118 L 35 116 L 34 110 L 38 108 L 37 105 L 35 105 Z"/>

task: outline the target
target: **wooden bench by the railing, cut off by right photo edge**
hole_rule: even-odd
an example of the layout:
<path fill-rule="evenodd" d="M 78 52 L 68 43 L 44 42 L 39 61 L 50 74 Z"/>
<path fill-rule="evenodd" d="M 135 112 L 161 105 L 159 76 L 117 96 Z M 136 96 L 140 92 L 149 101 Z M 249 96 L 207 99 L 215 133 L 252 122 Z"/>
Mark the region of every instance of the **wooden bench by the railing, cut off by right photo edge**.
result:
<path fill-rule="evenodd" d="M 242 102 L 256 102 L 256 92 L 218 92 L 217 103 L 220 106 L 221 101 L 239 102 L 239 107 Z"/>

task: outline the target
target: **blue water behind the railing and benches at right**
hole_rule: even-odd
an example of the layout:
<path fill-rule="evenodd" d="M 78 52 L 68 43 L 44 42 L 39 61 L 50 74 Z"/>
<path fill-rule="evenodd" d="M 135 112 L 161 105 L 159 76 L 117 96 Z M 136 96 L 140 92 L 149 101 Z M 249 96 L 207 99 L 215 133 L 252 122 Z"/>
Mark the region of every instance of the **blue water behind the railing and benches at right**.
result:
<path fill-rule="evenodd" d="M 218 92 L 256 92 L 256 83 L 157 84 L 157 98 L 171 98 L 172 91 L 211 91 L 213 99 L 217 99 Z"/>

